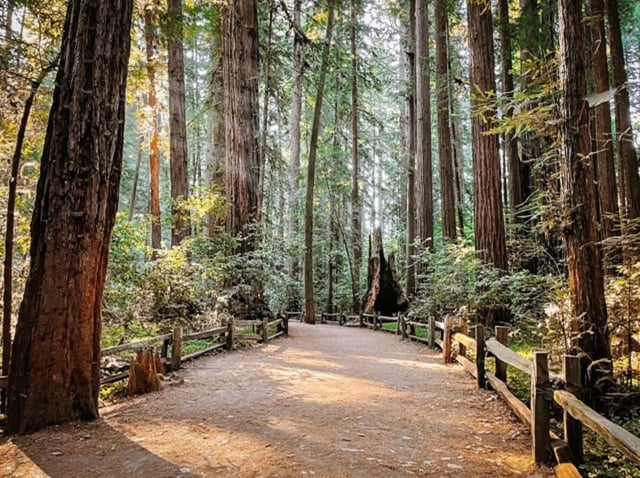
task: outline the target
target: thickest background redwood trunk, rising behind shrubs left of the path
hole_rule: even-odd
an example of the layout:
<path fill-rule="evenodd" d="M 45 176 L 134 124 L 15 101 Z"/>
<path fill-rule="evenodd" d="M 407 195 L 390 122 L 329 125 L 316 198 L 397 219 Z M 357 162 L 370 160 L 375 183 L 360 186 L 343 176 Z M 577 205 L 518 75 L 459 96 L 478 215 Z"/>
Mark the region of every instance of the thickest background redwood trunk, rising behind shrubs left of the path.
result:
<path fill-rule="evenodd" d="M 226 231 L 237 252 L 255 248 L 258 215 L 258 6 L 230 0 L 223 7 Z"/>

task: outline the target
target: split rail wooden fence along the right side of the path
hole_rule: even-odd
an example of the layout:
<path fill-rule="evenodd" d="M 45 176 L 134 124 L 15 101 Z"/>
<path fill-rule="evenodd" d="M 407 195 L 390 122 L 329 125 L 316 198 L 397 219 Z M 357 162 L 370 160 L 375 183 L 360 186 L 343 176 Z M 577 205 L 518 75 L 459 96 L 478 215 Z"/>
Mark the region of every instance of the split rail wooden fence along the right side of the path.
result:
<path fill-rule="evenodd" d="M 640 438 L 598 414 L 580 400 L 582 371 L 577 356 L 564 355 L 562 374 L 555 375 L 549 372 L 547 352 L 534 352 L 533 359 L 529 360 L 507 347 L 508 327 L 496 327 L 494 335 L 487 337 L 488 331 L 482 325 L 476 325 L 472 327 L 473 335 L 470 336 L 469 327 L 465 323 L 454 326 L 451 316 L 443 321 L 431 317 L 424 322 L 402 315 L 386 317 L 378 314 L 349 316 L 325 313 L 321 321 L 340 325 L 357 323 L 372 330 L 395 333 L 431 348 L 439 347 L 445 363 L 457 361 L 476 379 L 479 388 L 492 388 L 509 405 L 531 430 L 531 449 L 535 463 L 549 464 L 555 457 L 558 477 L 581 476 L 576 465 L 583 461 L 583 426 L 590 428 L 629 460 L 640 465 Z M 395 324 L 395 327 L 385 327 L 386 324 Z M 487 359 L 495 361 L 494 373 L 487 370 Z M 509 389 L 509 367 L 530 377 L 530 406 Z M 550 409 L 554 402 L 563 410 L 562 438 L 550 430 Z"/>

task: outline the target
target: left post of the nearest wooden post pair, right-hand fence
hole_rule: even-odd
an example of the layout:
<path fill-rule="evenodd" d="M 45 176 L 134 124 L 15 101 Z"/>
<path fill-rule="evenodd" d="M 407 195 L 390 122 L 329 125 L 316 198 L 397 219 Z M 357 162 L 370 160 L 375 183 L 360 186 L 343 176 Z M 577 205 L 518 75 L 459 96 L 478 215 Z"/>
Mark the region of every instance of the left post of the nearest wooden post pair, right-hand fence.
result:
<path fill-rule="evenodd" d="M 533 461 L 537 465 L 550 462 L 549 439 L 549 358 L 547 352 L 533 353 L 531 369 L 531 437 Z"/>

